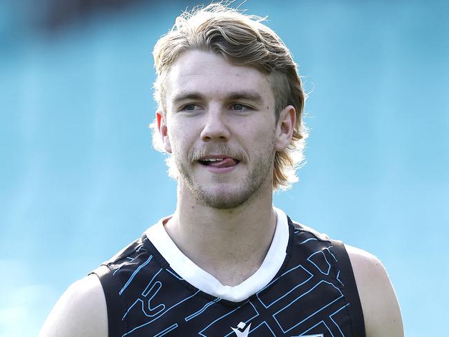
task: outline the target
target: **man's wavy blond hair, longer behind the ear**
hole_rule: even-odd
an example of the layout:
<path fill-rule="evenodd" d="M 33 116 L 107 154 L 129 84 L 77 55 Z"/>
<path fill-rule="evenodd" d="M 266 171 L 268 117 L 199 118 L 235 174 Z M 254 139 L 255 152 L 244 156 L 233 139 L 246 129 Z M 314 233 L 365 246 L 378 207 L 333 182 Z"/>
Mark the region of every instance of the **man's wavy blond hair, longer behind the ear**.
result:
<path fill-rule="evenodd" d="M 283 41 L 265 26 L 265 18 L 245 15 L 222 3 L 196 7 L 176 18 L 175 25 L 157 41 L 153 57 L 157 78 L 154 97 L 161 111 L 166 109 L 166 76 L 170 67 L 184 52 L 204 50 L 222 55 L 232 64 L 254 66 L 268 75 L 275 97 L 276 122 L 279 113 L 288 105 L 296 109 L 296 124 L 292 141 L 274 157 L 273 189 L 288 189 L 298 181 L 296 168 L 303 163 L 307 128 L 303 123 L 306 95 L 300 76 Z M 159 151 L 160 137 L 153 123 L 153 145 Z M 167 160 L 172 165 L 171 160 Z M 173 168 L 169 169 L 173 175 Z"/>

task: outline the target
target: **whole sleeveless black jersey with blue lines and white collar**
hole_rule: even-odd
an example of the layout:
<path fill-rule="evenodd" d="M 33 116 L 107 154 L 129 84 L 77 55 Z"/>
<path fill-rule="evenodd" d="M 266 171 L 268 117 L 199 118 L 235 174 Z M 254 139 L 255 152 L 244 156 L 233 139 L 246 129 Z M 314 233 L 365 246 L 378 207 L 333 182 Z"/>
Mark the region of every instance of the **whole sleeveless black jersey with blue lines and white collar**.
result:
<path fill-rule="evenodd" d="M 163 220 L 150 227 L 95 270 L 109 336 L 365 336 L 343 244 L 276 215 L 264 262 L 236 287 L 184 256 Z"/>

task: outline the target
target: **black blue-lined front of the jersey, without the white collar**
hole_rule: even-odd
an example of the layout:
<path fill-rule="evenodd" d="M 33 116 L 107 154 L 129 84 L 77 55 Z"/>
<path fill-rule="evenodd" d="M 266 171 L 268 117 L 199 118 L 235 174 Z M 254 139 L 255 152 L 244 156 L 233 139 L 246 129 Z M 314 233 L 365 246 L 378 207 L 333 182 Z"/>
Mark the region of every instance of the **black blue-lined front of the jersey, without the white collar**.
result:
<path fill-rule="evenodd" d="M 107 262 L 102 278 L 110 336 L 354 336 L 351 303 L 332 243 L 289 220 L 283 267 L 242 302 L 196 289 L 162 258 L 145 235 Z M 113 286 L 111 286 L 113 285 Z M 112 307 L 112 306 L 108 306 Z M 122 309 L 121 309 L 122 308 Z M 111 322 L 115 320 L 115 322 Z M 118 329 L 111 330 L 111 327 Z"/>

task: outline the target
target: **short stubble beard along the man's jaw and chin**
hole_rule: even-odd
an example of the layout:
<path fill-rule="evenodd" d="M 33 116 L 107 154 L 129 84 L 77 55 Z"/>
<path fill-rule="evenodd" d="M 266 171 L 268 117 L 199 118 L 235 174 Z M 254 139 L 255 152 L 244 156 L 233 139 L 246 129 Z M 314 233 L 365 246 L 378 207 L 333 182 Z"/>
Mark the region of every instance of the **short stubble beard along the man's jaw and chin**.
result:
<path fill-rule="evenodd" d="M 243 182 L 240 182 L 240 189 L 231 193 L 223 193 L 219 189 L 207 191 L 199 182 L 193 180 L 182 160 L 175 157 L 175 164 L 180 173 L 178 179 L 182 179 L 186 183 L 192 195 L 200 204 L 213 209 L 236 209 L 254 199 L 261 192 L 262 186 L 269 180 L 269 175 L 273 174 L 271 166 L 274 162 L 274 153 L 268 153 L 267 151 L 265 155 L 258 155 L 256 158 L 254 167 L 249 171 Z M 220 182 L 217 181 L 217 184 L 220 184 Z M 269 184 L 269 188 L 271 188 L 271 184 Z"/>

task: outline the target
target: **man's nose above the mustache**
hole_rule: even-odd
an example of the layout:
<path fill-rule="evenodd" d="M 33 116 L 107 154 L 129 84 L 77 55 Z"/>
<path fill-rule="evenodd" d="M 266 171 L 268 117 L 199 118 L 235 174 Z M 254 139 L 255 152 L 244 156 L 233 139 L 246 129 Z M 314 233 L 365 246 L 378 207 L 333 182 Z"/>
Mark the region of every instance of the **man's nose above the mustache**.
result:
<path fill-rule="evenodd" d="M 227 142 L 231 137 L 231 131 L 229 131 L 226 119 L 226 111 L 222 111 L 220 108 L 209 109 L 205 116 L 201 139 L 204 142 L 211 140 Z"/>

